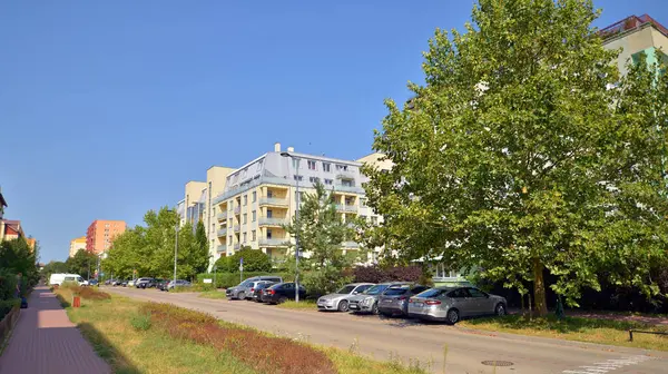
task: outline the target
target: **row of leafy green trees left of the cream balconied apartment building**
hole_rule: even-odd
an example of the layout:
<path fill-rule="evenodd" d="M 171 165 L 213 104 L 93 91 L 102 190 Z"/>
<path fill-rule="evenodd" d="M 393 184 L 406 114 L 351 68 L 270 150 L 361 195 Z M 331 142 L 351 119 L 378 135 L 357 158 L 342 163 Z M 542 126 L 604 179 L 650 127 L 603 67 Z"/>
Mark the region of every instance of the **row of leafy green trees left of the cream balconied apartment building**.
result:
<path fill-rule="evenodd" d="M 174 272 L 176 245 L 176 211 L 163 207 L 144 216 L 145 226 L 136 226 L 114 239 L 102 269 L 114 277 L 151 276 L 170 278 Z M 209 253 L 203 223 L 196 229 L 190 224 L 178 228 L 177 276 L 191 279 L 206 272 Z"/>

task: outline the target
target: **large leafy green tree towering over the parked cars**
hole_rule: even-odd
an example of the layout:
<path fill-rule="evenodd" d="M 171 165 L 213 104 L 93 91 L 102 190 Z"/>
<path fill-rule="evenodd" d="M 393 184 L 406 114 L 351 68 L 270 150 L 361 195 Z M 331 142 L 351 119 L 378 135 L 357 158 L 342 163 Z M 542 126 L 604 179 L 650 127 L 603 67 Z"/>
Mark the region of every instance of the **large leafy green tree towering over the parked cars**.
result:
<path fill-rule="evenodd" d="M 570 304 L 603 268 L 656 293 L 665 79 L 645 68 L 621 79 L 597 17 L 587 0 L 480 0 L 463 33 L 436 30 L 425 85 L 410 85 L 404 108 L 386 101 L 373 148 L 394 166 L 365 168 L 385 217 L 369 236 L 407 259 L 480 266 L 522 294 L 532 282 L 542 315 L 546 272 Z"/>

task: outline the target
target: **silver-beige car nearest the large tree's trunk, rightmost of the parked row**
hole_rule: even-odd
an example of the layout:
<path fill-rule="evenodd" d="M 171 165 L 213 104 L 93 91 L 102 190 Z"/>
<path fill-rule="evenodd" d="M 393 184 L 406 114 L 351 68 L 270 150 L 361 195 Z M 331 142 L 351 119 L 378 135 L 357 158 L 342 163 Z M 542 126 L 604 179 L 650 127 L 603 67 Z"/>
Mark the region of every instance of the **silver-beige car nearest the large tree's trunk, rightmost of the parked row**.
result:
<path fill-rule="evenodd" d="M 438 287 L 411 297 L 409 315 L 453 325 L 462 317 L 504 316 L 507 305 L 504 297 L 490 295 L 475 287 Z"/>

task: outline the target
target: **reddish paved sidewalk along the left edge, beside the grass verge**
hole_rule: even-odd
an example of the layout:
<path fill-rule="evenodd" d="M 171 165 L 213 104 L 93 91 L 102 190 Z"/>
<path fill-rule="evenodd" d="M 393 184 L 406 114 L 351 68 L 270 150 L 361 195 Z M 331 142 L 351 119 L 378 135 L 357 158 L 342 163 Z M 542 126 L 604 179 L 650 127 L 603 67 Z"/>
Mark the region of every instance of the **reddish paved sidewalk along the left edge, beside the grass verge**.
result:
<path fill-rule="evenodd" d="M 69 321 L 58 298 L 37 287 L 0 356 L 0 374 L 107 374 L 111 368 Z"/>

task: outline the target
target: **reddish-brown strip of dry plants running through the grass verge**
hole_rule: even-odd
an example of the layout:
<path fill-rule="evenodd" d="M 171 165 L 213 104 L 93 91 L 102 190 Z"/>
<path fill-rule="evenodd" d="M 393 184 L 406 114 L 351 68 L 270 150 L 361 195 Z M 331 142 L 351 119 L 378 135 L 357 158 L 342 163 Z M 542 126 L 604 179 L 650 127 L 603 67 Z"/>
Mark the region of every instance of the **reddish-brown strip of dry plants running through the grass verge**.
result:
<path fill-rule="evenodd" d="M 228 351 L 261 373 L 337 373 L 324 352 L 288 338 L 222 326 L 212 315 L 170 304 L 149 303 L 143 307 L 143 312 L 150 313 L 153 324 L 169 335 Z"/>

